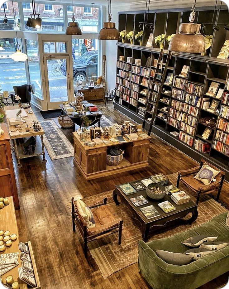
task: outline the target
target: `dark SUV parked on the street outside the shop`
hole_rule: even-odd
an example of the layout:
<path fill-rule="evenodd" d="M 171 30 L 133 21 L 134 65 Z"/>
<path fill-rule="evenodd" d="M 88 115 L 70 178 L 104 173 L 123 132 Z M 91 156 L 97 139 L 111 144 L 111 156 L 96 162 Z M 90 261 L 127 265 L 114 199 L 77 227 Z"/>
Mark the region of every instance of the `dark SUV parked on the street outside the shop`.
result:
<path fill-rule="evenodd" d="M 73 60 L 73 76 L 74 81 L 86 80 L 86 74 L 97 75 L 98 66 L 98 51 L 88 51 L 83 53 L 78 59 Z M 62 63 L 60 71 L 64 76 L 66 75 L 66 65 Z"/>

